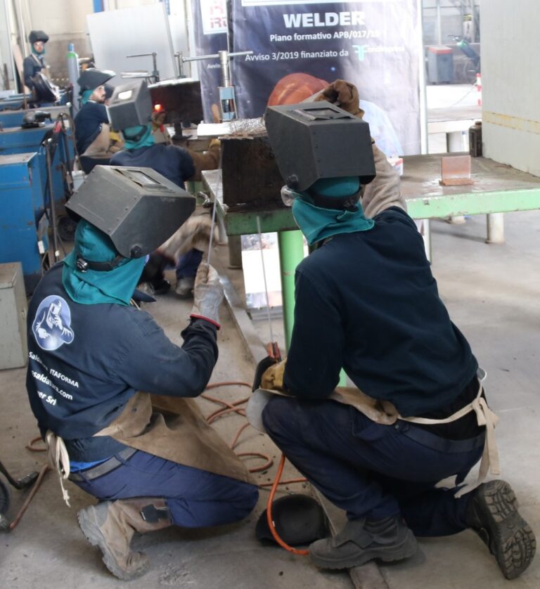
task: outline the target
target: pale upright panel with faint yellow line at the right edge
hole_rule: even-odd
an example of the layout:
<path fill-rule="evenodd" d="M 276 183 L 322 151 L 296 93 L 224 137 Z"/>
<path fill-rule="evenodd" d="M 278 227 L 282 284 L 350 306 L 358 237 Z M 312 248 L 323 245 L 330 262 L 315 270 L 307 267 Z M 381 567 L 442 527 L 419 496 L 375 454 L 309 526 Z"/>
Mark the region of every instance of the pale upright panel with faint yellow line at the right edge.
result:
<path fill-rule="evenodd" d="M 484 155 L 540 176 L 538 0 L 482 3 Z"/>

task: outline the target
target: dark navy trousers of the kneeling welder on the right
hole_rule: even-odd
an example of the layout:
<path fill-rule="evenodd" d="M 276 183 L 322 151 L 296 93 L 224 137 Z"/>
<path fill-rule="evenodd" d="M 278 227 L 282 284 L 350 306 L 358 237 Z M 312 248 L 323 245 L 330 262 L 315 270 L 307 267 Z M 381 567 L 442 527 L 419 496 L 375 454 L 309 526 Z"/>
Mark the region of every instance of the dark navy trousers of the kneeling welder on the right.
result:
<path fill-rule="evenodd" d="M 454 474 L 465 477 L 480 460 L 482 436 L 449 441 L 403 421 L 379 425 L 337 401 L 283 396 L 274 396 L 262 417 L 290 462 L 349 519 L 401 512 L 416 536 L 447 536 L 468 527 L 468 496 L 457 499 L 456 488 L 435 484 Z M 422 443 L 411 438 L 416 434 Z"/>

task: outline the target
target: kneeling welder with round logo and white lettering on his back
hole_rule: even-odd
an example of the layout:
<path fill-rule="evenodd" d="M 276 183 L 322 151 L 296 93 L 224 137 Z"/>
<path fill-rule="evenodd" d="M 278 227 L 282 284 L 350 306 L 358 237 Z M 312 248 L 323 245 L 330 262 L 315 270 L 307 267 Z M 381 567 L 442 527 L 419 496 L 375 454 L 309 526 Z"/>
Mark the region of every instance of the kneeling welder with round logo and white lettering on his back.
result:
<path fill-rule="evenodd" d="M 148 569 L 130 549 L 135 531 L 236 522 L 257 502 L 245 466 L 189 399 L 217 361 L 216 271 L 200 265 L 181 347 L 134 302 L 146 254 L 194 200 L 148 168 L 96 167 L 68 203 L 82 218 L 72 253 L 28 311 L 32 411 L 60 477 L 100 500 L 79 526 L 122 579 Z"/>

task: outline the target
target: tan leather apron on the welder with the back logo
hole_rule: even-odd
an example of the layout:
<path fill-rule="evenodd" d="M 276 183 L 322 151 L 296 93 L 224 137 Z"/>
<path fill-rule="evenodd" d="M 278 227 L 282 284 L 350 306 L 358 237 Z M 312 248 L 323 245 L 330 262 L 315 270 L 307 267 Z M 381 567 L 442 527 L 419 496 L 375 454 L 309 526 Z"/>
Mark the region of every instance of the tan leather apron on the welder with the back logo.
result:
<path fill-rule="evenodd" d="M 256 484 L 242 460 L 208 425 L 195 399 L 138 392 L 96 436 L 177 464 Z"/>

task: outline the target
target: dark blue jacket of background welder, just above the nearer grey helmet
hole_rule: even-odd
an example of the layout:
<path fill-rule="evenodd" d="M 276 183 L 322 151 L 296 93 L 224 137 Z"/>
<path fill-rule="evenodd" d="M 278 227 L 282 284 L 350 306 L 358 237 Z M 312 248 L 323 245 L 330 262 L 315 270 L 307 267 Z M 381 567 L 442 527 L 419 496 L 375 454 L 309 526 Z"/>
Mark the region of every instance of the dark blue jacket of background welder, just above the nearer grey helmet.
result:
<path fill-rule="evenodd" d="M 110 165 L 152 168 L 180 188 L 195 174 L 193 158 L 185 149 L 163 143 L 119 151 L 111 158 Z"/>

